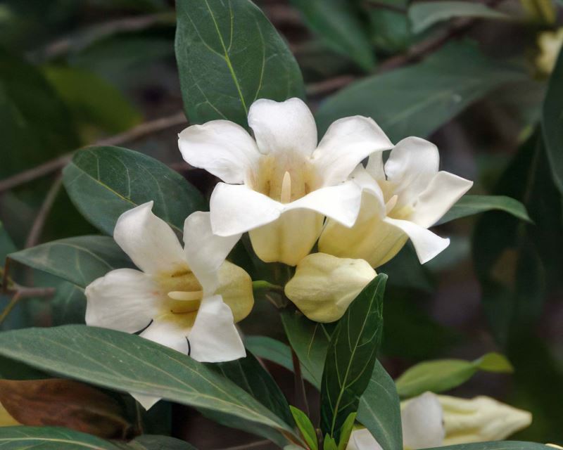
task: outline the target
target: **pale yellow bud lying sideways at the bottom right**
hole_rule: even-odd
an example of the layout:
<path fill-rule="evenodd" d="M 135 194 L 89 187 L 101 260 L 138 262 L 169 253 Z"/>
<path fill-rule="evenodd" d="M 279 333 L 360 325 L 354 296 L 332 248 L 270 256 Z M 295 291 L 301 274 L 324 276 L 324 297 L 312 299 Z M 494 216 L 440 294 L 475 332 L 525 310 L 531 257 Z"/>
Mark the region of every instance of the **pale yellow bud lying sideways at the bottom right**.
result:
<path fill-rule="evenodd" d="M 528 411 L 490 397 L 460 399 L 438 395 L 443 408 L 444 445 L 505 439 L 532 422 Z"/>

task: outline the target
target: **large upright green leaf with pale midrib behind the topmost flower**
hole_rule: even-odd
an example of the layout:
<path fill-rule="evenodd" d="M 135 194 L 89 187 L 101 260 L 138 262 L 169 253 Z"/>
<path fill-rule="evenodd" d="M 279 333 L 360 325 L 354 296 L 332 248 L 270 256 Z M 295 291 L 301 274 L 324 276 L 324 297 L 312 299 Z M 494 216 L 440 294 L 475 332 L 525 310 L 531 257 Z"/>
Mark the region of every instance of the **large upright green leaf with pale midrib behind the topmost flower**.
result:
<path fill-rule="evenodd" d="M 191 123 L 227 119 L 246 127 L 257 98 L 303 97 L 284 40 L 250 0 L 179 0 L 176 60 Z"/>

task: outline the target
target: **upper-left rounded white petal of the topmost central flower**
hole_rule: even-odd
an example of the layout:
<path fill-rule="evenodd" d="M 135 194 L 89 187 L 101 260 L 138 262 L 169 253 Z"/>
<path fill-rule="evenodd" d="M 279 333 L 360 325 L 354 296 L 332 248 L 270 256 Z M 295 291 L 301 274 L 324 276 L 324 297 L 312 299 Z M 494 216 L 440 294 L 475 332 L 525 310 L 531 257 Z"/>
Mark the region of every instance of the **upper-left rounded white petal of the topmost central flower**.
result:
<path fill-rule="evenodd" d="M 260 158 L 252 136 L 228 120 L 192 125 L 178 137 L 180 152 L 188 164 L 201 167 L 226 183 L 243 183 Z"/>

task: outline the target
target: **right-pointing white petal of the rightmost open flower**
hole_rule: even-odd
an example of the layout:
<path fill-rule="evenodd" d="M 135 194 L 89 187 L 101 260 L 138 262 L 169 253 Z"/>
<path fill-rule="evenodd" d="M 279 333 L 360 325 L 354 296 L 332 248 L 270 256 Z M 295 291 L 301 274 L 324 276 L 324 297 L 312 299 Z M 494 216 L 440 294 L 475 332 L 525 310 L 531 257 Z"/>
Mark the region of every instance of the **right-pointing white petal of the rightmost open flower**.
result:
<path fill-rule="evenodd" d="M 438 172 L 419 195 L 410 220 L 424 228 L 434 225 L 472 186 L 461 176 Z"/>

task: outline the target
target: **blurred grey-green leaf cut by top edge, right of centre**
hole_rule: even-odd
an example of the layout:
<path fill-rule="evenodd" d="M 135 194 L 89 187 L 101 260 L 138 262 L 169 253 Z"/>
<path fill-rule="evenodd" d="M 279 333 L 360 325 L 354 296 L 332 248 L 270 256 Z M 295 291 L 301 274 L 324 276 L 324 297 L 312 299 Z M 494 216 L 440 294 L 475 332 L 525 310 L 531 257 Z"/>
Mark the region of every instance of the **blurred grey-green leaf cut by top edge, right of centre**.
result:
<path fill-rule="evenodd" d="M 408 15 L 414 33 L 452 18 L 510 19 L 505 13 L 473 1 L 419 1 L 410 6 Z"/>

